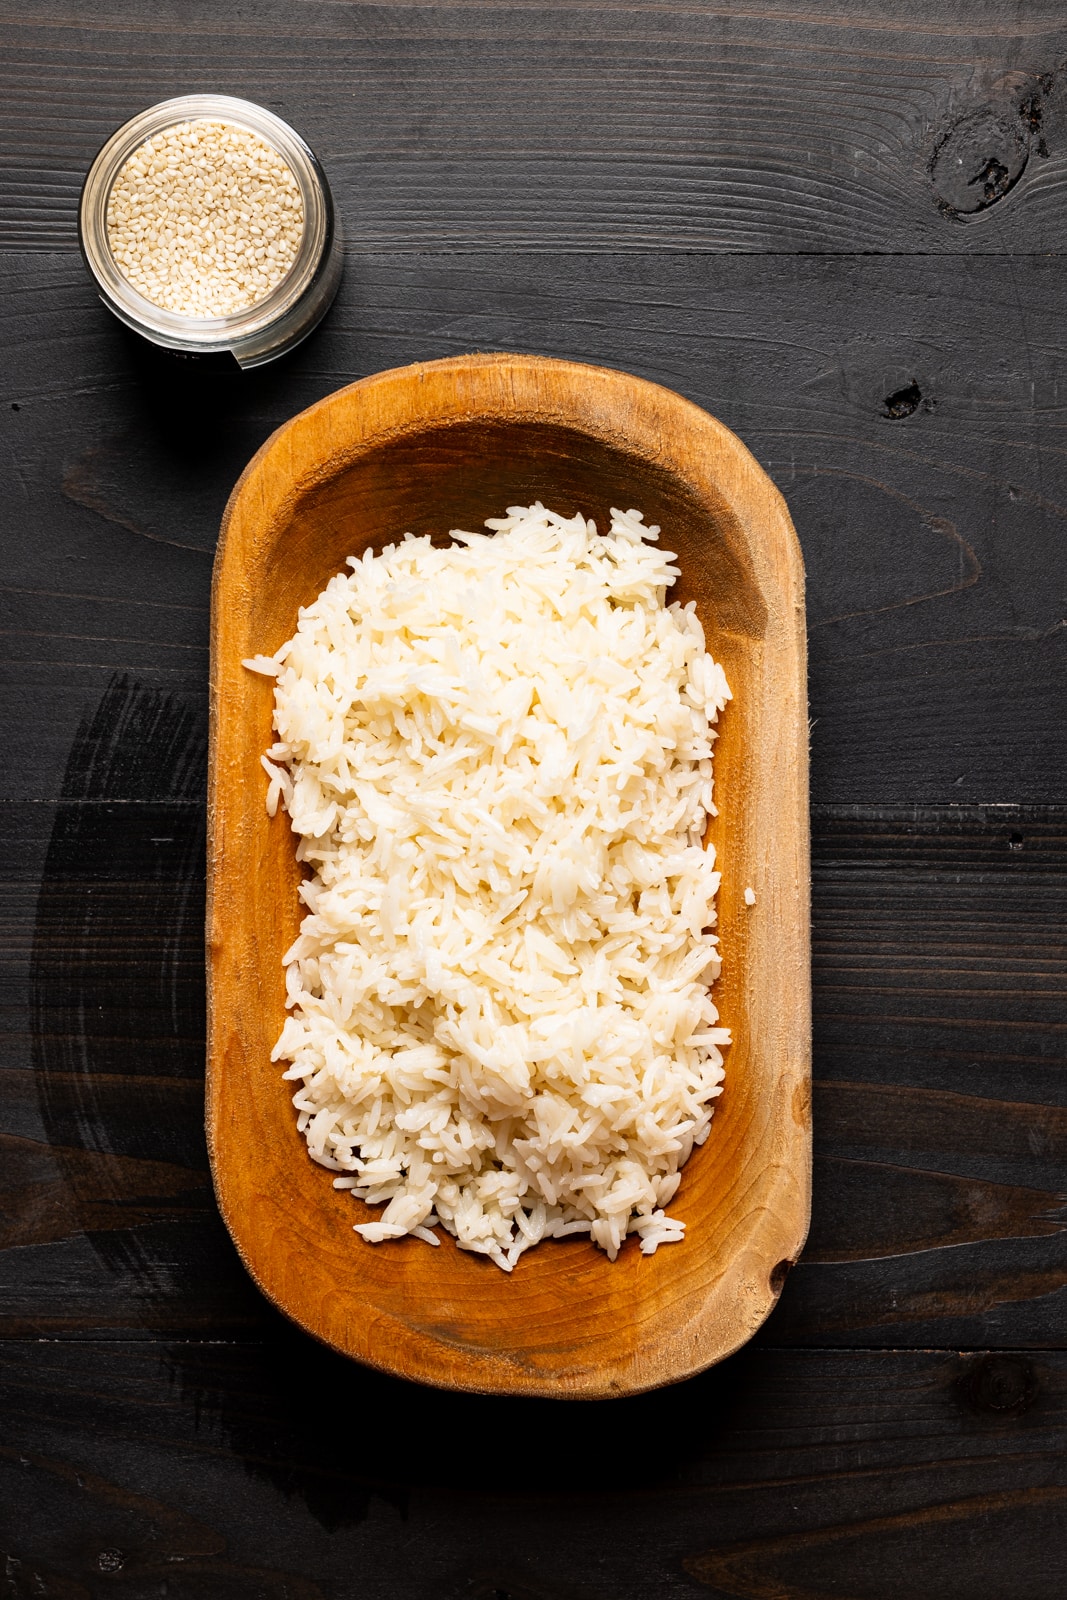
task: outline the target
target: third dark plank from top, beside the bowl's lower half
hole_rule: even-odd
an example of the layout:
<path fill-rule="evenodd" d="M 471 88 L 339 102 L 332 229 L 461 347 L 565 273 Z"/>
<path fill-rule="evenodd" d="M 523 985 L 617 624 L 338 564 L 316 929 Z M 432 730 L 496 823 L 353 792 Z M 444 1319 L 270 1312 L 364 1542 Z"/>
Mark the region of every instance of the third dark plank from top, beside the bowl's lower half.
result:
<path fill-rule="evenodd" d="M 101 794 L 154 770 L 138 693 L 99 718 L 126 730 L 107 758 L 77 746 L 77 794 L 3 814 L 8 1334 L 262 1315 L 203 1149 L 200 805 Z M 813 838 L 813 1232 L 766 1339 L 1062 1346 L 1067 814 L 821 808 Z"/>

